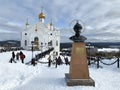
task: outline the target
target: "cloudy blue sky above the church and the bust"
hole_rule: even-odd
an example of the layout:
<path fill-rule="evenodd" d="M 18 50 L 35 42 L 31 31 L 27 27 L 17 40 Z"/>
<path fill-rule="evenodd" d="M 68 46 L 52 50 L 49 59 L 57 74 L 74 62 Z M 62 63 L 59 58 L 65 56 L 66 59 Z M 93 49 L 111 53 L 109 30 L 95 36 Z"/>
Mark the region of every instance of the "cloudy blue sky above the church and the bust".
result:
<path fill-rule="evenodd" d="M 0 40 L 20 40 L 27 17 L 30 25 L 37 23 L 42 6 L 45 23 L 53 19 L 61 42 L 73 35 L 70 23 L 74 19 L 83 22 L 82 34 L 89 42 L 120 41 L 119 0 L 0 0 Z"/>

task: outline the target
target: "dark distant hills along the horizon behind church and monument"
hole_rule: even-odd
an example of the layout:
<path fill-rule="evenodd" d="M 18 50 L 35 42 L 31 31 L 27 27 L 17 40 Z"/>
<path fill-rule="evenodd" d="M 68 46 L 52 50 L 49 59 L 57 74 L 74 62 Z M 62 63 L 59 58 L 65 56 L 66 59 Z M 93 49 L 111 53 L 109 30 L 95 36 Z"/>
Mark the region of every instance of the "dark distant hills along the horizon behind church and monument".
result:
<path fill-rule="evenodd" d="M 86 45 L 88 45 L 89 42 L 86 42 Z M 17 46 L 20 47 L 20 41 L 17 40 L 6 40 L 6 41 L 0 41 L 0 46 Z M 120 48 L 120 42 L 90 42 L 91 46 L 95 46 L 98 48 L 109 48 L 109 47 L 117 47 Z M 71 48 L 72 43 L 60 43 L 60 48 Z"/>

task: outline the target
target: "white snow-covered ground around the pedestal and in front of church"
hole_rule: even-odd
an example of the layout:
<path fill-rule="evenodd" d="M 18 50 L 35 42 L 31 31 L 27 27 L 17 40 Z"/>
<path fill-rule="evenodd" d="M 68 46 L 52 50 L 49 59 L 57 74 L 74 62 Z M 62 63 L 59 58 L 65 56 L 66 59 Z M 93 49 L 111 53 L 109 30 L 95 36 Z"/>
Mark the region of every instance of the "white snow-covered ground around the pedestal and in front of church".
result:
<path fill-rule="evenodd" d="M 31 51 L 23 51 L 23 53 L 26 55 L 25 62 L 30 61 Z M 68 87 L 64 74 L 69 72 L 69 65 L 55 68 L 54 65 L 48 67 L 47 64 L 38 63 L 34 67 L 22 64 L 20 61 L 9 63 L 10 58 L 11 52 L 0 53 L 0 90 L 120 90 L 120 68 L 117 68 L 116 64 L 112 66 L 101 64 L 103 68 L 99 69 L 95 65 L 89 67 L 90 77 L 94 79 L 95 87 Z"/>

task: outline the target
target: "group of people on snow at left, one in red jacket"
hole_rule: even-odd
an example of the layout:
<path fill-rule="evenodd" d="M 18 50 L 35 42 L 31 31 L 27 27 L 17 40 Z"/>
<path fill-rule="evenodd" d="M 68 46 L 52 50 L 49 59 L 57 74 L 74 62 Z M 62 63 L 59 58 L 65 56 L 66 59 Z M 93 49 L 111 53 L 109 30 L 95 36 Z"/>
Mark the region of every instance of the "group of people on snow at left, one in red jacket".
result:
<path fill-rule="evenodd" d="M 9 62 L 10 62 L 10 63 L 12 63 L 12 62 L 16 63 L 15 59 L 16 59 L 16 60 L 19 60 L 19 59 L 20 59 L 21 62 L 24 63 L 25 54 L 24 54 L 22 51 L 17 52 L 17 53 L 15 54 L 15 52 L 13 51 L 13 52 L 12 52 L 12 56 L 11 56 Z"/>

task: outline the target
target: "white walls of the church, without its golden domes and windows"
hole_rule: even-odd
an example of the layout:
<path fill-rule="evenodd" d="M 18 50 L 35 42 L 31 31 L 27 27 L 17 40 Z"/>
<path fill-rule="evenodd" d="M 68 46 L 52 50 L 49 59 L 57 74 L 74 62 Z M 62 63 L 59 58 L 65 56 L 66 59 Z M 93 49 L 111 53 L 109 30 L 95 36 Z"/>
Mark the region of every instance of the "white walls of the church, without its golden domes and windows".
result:
<path fill-rule="evenodd" d="M 39 50 L 42 51 L 48 50 L 50 47 L 54 47 L 54 51 L 59 53 L 60 48 L 60 34 L 58 31 L 53 29 L 54 27 L 48 27 L 43 22 L 38 22 L 35 25 L 26 28 L 22 32 L 21 46 L 24 49 L 31 48 L 31 41 L 34 41 L 35 37 L 38 37 Z M 24 34 L 27 33 L 25 36 Z M 27 46 L 25 46 L 25 40 L 27 40 Z M 52 41 L 52 45 L 49 47 L 48 42 Z M 58 42 L 58 45 L 56 45 Z M 42 45 L 41 45 L 42 43 Z"/>

